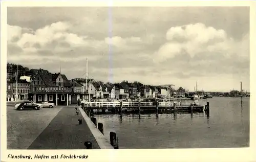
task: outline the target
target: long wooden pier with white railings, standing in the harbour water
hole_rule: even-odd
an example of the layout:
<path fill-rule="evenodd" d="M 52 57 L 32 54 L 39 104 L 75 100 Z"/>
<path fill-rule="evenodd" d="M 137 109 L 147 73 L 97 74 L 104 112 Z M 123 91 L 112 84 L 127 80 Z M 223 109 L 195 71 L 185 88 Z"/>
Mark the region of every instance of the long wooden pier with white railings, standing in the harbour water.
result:
<path fill-rule="evenodd" d="M 203 112 L 199 102 L 86 102 L 85 109 L 95 114 L 115 113 L 172 113 L 177 111 Z"/>

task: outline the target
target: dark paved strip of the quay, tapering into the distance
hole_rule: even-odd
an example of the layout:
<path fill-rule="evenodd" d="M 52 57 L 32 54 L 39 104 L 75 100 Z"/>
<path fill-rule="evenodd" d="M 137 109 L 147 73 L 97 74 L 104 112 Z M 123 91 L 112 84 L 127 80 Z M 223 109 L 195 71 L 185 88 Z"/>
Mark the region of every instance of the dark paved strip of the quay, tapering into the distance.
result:
<path fill-rule="evenodd" d="M 76 115 L 74 107 L 63 107 L 28 149 L 86 149 L 85 141 L 92 142 L 92 149 L 100 149 L 80 111 Z"/>

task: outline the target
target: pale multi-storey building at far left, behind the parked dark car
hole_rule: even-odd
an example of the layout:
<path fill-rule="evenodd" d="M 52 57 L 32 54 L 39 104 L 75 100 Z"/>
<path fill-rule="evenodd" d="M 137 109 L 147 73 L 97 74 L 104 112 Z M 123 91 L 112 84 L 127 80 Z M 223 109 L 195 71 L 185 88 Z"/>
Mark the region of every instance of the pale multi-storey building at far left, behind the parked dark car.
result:
<path fill-rule="evenodd" d="M 16 90 L 17 90 L 17 101 L 28 100 L 30 93 L 30 82 L 26 80 L 18 80 L 16 89 L 16 80 L 9 82 L 7 86 L 9 101 L 15 101 Z"/>

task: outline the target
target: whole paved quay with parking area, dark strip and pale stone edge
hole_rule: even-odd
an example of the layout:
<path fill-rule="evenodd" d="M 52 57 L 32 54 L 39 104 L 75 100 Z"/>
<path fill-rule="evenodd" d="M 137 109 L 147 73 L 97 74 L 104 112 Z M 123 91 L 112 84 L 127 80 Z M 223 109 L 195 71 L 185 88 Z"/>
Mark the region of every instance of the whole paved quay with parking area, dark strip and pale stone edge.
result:
<path fill-rule="evenodd" d="M 7 149 L 113 149 L 74 106 L 14 110 L 7 106 Z M 79 121 L 81 124 L 79 124 Z"/>

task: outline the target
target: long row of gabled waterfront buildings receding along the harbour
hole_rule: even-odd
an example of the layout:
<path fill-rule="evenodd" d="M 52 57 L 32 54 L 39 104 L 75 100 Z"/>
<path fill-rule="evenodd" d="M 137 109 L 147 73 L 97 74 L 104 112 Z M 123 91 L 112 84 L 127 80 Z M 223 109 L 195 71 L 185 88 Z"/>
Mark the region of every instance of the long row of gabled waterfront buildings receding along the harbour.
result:
<path fill-rule="evenodd" d="M 15 65 L 14 65 L 15 68 Z M 7 71 L 7 73 L 9 73 Z M 14 72 L 12 70 L 11 72 Z M 185 90 L 167 90 L 167 87 L 143 85 L 139 82 L 121 83 L 95 82 L 92 79 L 76 78 L 68 80 L 60 73 L 49 73 L 46 70 L 27 70 L 15 79 L 14 74 L 8 74 L 7 101 L 33 100 L 36 103 L 43 101 L 54 102 L 55 105 L 76 104 L 77 100 L 90 99 L 135 99 L 135 98 L 164 98 L 173 95 L 184 96 Z M 29 74 L 26 76 L 26 74 Z M 13 79 L 14 77 L 14 79 Z M 16 86 L 17 82 L 17 86 Z M 89 97 L 90 96 L 90 97 Z"/>

